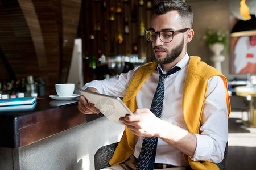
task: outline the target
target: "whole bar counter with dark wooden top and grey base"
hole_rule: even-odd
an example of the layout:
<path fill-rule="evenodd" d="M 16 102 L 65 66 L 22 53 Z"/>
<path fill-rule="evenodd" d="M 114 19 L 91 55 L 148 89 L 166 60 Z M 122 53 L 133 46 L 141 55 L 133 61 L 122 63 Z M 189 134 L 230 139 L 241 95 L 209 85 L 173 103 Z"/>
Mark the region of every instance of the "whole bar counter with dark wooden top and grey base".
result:
<path fill-rule="evenodd" d="M 94 169 L 97 149 L 124 126 L 82 114 L 77 101 L 41 96 L 30 108 L 0 108 L 0 169 Z"/>

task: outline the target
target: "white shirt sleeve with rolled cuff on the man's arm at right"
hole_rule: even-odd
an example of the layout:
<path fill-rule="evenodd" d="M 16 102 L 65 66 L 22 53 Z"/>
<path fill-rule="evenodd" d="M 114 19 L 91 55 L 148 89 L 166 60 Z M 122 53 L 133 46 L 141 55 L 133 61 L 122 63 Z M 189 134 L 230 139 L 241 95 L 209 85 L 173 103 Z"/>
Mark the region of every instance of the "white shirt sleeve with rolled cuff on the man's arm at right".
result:
<path fill-rule="evenodd" d="M 220 76 L 208 81 L 200 134 L 192 160 L 220 163 L 228 142 L 228 109 L 224 82 Z"/>

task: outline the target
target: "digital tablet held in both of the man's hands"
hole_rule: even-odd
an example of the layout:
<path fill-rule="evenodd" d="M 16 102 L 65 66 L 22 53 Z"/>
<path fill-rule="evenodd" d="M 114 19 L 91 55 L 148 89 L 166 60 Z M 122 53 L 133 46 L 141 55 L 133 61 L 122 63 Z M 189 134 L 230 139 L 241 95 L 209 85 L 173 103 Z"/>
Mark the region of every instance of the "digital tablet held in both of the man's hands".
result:
<path fill-rule="evenodd" d="M 122 122 L 119 121 L 120 117 L 124 117 L 126 114 L 133 114 L 119 97 L 98 94 L 88 90 L 80 90 L 80 92 L 110 121 L 117 124 L 123 125 Z"/>

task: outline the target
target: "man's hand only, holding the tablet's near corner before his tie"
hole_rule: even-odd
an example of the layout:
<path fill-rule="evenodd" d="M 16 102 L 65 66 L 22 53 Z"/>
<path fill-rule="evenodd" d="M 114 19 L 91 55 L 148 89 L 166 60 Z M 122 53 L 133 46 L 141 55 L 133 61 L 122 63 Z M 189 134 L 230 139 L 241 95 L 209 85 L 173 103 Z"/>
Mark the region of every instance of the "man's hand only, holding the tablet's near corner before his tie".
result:
<path fill-rule="evenodd" d="M 160 124 L 163 122 L 150 109 L 137 109 L 134 115 L 127 114 L 119 120 L 139 137 L 157 136 L 160 131 Z"/>

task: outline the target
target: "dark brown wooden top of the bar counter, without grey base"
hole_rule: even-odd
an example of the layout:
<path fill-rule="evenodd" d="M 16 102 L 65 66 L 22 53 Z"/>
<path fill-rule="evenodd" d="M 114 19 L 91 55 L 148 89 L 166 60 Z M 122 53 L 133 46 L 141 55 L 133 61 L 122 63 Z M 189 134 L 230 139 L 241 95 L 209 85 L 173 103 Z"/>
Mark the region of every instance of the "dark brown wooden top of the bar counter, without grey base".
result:
<path fill-rule="evenodd" d="M 46 96 L 38 98 L 30 109 L 0 108 L 0 147 L 30 145 L 99 117 L 82 114 L 77 100 L 52 100 Z"/>

